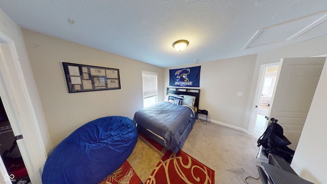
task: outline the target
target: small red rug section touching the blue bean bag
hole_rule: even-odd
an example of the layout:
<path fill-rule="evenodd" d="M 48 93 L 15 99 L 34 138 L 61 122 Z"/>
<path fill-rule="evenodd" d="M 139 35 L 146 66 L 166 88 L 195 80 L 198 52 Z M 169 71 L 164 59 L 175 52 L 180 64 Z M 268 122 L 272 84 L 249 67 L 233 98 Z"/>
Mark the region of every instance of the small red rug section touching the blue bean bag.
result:
<path fill-rule="evenodd" d="M 111 173 L 109 176 L 104 178 L 99 184 L 118 184 L 118 183 L 130 183 L 130 184 L 140 184 L 143 183 L 141 179 L 137 176 L 134 169 L 127 162 Z"/>

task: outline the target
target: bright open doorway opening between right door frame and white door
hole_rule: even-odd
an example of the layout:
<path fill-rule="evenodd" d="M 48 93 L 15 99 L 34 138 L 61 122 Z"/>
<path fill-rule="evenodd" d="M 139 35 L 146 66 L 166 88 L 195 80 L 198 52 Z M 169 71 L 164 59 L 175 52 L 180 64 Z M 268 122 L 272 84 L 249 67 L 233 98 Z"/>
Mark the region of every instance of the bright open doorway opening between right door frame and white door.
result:
<path fill-rule="evenodd" d="M 270 100 L 276 82 L 278 64 L 264 66 L 262 85 L 260 87 L 260 97 L 256 119 L 253 128 L 253 137 L 259 139 L 266 127 L 266 116 L 270 107 Z"/>

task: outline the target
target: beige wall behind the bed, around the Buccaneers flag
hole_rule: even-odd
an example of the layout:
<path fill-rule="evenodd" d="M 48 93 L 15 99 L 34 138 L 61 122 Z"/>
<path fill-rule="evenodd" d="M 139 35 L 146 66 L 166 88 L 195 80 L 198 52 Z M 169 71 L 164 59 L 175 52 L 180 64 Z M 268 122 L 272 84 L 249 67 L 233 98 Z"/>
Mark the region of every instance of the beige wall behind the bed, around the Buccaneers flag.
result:
<path fill-rule="evenodd" d="M 169 69 L 201 65 L 199 108 L 208 110 L 209 121 L 247 132 L 246 108 L 255 60 L 256 55 L 249 55 L 165 68 L 165 86 L 169 86 Z"/>

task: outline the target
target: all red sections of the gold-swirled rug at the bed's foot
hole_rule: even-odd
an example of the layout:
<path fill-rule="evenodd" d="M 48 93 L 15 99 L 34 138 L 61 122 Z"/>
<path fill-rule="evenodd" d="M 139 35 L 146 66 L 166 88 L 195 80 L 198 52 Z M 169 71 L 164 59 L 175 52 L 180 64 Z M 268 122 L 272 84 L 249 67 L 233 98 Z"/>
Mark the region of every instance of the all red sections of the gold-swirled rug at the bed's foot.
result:
<path fill-rule="evenodd" d="M 164 154 L 145 181 L 145 184 L 215 183 L 215 171 L 203 165 L 192 156 L 183 151 L 173 153 L 150 139 L 143 132 L 139 131 L 138 135 L 154 149 Z M 118 183 L 140 184 L 143 182 L 126 160 L 118 170 L 99 182 L 99 184 Z"/>

